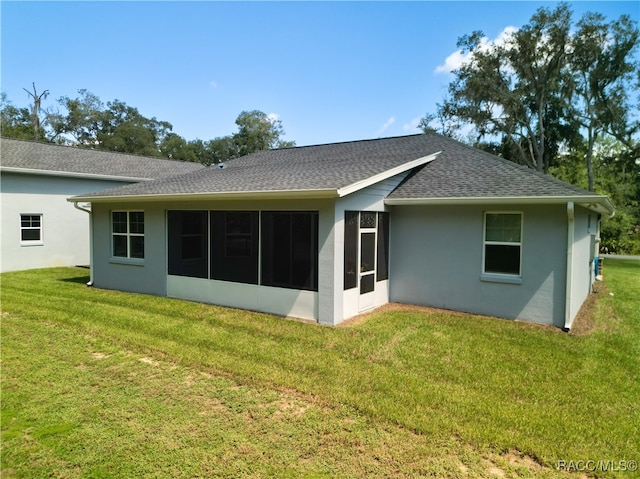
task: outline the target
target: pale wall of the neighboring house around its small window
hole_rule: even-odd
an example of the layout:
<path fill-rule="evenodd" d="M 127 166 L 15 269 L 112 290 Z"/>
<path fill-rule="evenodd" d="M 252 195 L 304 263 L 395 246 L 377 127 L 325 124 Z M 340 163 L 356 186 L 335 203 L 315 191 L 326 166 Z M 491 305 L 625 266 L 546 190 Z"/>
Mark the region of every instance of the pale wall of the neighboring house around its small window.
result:
<path fill-rule="evenodd" d="M 127 184 L 120 181 L 3 172 L 2 271 L 89 264 L 89 215 L 67 198 Z M 41 214 L 41 244 L 21 244 L 20 215 Z"/>

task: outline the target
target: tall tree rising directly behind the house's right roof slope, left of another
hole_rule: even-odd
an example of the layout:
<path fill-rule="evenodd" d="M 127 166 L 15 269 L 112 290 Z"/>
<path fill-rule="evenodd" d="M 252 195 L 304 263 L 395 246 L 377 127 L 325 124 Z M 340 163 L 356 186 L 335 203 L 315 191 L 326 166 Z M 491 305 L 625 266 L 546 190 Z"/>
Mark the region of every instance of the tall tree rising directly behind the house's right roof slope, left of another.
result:
<path fill-rule="evenodd" d="M 517 160 L 546 171 L 558 150 L 558 122 L 571 11 L 561 4 L 554 11 L 539 9 L 529 24 L 513 32 L 504 44 L 488 46 L 482 32 L 458 41 L 469 61 L 455 72 L 443 116 L 469 124 L 477 142 L 505 137 Z"/>

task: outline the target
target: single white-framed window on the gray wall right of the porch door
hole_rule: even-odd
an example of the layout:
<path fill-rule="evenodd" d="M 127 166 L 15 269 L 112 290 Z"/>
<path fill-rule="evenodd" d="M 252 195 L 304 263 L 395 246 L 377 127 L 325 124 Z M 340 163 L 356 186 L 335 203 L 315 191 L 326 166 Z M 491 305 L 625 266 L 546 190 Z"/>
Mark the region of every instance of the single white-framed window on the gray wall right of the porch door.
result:
<path fill-rule="evenodd" d="M 522 213 L 485 213 L 484 272 L 520 276 Z"/>

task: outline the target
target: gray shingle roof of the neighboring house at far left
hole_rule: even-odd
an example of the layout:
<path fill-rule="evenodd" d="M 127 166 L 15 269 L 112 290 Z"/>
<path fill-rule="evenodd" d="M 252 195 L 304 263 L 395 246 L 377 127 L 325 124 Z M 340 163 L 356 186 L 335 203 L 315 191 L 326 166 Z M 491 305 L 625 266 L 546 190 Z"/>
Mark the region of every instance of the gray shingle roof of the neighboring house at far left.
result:
<path fill-rule="evenodd" d="M 203 168 L 198 163 L 11 138 L 0 139 L 0 169 L 6 172 L 145 181 Z"/>

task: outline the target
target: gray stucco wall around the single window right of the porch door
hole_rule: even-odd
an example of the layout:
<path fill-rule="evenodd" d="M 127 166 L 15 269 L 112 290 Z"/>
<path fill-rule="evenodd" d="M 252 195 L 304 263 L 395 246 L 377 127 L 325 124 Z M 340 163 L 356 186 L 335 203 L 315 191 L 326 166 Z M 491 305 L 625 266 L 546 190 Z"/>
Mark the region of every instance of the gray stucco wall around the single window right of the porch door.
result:
<path fill-rule="evenodd" d="M 522 283 L 481 280 L 483 213 L 523 213 Z M 394 206 L 390 300 L 564 325 L 564 205 Z"/>

